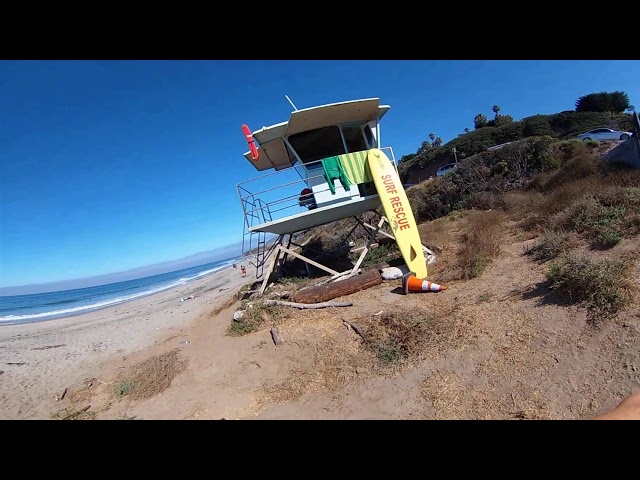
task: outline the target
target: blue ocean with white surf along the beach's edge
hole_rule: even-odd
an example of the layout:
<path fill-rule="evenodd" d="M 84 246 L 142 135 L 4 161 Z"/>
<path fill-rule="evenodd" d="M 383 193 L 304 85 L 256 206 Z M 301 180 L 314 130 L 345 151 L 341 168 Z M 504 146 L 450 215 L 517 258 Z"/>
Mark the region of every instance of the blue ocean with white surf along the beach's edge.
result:
<path fill-rule="evenodd" d="M 234 262 L 240 263 L 239 259 L 230 258 L 108 285 L 60 292 L 3 296 L 0 297 L 0 325 L 53 320 L 128 302 L 184 285 L 196 278 L 217 272 Z"/>

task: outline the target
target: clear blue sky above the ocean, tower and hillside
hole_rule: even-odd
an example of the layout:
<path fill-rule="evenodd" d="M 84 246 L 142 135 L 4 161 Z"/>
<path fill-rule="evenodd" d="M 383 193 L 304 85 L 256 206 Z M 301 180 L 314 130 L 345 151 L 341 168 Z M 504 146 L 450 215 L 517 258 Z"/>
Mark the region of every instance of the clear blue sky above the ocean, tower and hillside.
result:
<path fill-rule="evenodd" d="M 241 240 L 240 126 L 367 97 L 414 153 L 494 104 L 515 119 L 596 91 L 640 103 L 639 61 L 2 61 L 0 286 L 127 270 Z"/>

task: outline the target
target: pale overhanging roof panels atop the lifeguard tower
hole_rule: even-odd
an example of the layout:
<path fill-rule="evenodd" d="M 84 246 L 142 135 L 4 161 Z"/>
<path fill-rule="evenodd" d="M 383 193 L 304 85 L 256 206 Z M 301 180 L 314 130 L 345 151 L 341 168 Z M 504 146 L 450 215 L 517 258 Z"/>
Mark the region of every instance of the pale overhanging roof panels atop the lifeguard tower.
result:
<path fill-rule="evenodd" d="M 253 132 L 254 140 L 260 145 L 258 160 L 253 160 L 251 152 L 246 152 L 244 157 L 258 171 L 292 167 L 296 159 L 287 149 L 285 138 L 333 125 L 379 121 L 390 108 L 389 105 L 380 105 L 379 98 L 366 98 L 295 110 L 288 121 Z"/>

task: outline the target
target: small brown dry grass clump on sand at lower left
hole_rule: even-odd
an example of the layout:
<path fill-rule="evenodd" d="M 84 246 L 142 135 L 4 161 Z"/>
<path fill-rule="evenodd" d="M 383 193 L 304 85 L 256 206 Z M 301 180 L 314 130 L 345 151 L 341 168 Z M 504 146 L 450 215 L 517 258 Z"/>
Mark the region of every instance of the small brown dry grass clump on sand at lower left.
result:
<path fill-rule="evenodd" d="M 151 398 L 169 388 L 173 379 L 186 367 L 187 363 L 180 358 L 177 349 L 156 355 L 121 374 L 113 386 L 113 395 L 132 400 Z"/>

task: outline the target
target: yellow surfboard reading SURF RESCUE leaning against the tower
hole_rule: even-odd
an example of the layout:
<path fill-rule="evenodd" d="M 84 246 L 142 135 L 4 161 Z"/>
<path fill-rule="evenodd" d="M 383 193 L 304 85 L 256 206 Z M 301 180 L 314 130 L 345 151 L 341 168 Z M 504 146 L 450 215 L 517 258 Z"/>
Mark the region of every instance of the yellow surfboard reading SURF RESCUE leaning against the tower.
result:
<path fill-rule="evenodd" d="M 416 277 L 426 278 L 427 263 L 418 225 L 396 169 L 385 153 L 377 148 L 369 150 L 367 162 L 402 258 Z"/>

